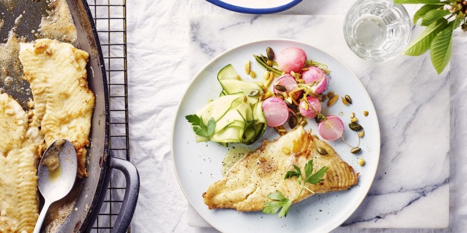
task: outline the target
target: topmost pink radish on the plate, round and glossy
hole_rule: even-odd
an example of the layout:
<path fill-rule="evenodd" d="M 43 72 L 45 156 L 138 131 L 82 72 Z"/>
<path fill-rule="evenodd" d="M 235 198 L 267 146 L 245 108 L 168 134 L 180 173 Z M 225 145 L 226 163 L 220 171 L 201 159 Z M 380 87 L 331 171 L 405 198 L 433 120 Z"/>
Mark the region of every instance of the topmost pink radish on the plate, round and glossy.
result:
<path fill-rule="evenodd" d="M 286 73 L 290 73 L 290 71 L 295 73 L 300 72 L 303 66 L 305 66 L 305 61 L 306 53 L 300 48 L 287 48 L 276 54 L 276 62 L 279 65 L 279 69 Z"/>

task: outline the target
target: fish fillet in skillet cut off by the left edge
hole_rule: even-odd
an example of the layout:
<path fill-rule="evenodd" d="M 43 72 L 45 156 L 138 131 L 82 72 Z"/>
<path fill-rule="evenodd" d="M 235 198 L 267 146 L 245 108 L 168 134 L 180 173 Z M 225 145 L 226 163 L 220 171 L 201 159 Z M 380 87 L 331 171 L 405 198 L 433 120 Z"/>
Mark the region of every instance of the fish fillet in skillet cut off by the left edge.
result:
<path fill-rule="evenodd" d="M 21 105 L 0 94 L 0 232 L 32 233 L 38 217 L 37 160 L 43 138 Z"/>

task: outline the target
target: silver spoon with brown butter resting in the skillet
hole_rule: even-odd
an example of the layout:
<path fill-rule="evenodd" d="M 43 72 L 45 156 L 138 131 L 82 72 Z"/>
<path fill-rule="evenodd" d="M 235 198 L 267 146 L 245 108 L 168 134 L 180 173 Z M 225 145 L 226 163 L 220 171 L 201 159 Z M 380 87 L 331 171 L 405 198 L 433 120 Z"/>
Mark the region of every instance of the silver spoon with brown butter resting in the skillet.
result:
<path fill-rule="evenodd" d="M 66 139 L 54 141 L 40 159 L 37 168 L 39 191 L 45 199 L 34 233 L 39 233 L 50 205 L 67 196 L 76 180 L 78 161 L 73 144 Z"/>

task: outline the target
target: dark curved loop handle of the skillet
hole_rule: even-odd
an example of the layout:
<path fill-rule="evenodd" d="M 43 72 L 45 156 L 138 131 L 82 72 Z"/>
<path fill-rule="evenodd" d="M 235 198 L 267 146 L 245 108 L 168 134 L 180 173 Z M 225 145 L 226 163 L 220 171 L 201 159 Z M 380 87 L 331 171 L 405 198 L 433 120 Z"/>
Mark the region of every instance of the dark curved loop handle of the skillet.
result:
<path fill-rule="evenodd" d="M 112 233 L 126 233 L 126 230 L 130 226 L 131 218 L 135 213 L 136 202 L 138 201 L 140 175 L 136 167 L 124 159 L 111 157 L 110 167 L 122 171 L 126 179 L 125 197 L 123 198 L 122 208 L 120 208 L 117 220 L 113 225 Z"/>

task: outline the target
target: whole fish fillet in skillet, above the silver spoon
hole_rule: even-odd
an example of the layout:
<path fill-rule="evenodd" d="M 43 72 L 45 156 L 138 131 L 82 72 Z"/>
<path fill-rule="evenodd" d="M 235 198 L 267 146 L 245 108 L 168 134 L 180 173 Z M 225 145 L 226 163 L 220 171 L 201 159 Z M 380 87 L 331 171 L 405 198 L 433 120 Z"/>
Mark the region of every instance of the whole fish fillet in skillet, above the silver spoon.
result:
<path fill-rule="evenodd" d="M 86 157 L 95 97 L 88 88 L 89 54 L 71 44 L 38 39 L 21 43 L 19 60 L 33 93 L 33 122 L 40 126 L 47 149 L 55 140 L 72 142 L 78 175 L 87 176 Z"/>

